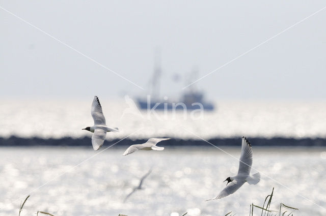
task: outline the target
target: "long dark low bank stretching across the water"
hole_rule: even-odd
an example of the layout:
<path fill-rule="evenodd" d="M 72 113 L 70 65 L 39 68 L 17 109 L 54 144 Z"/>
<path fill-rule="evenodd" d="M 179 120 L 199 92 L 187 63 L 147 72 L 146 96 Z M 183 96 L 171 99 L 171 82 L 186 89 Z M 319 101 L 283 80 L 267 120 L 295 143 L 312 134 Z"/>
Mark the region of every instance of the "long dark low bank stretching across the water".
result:
<path fill-rule="evenodd" d="M 284 138 L 284 137 L 274 137 L 274 138 L 263 138 L 263 137 L 248 137 L 250 142 L 254 146 L 326 146 L 326 138 Z M 118 142 L 116 140 L 106 140 L 105 145 L 114 144 Z M 144 143 L 147 139 L 124 139 L 118 144 L 121 145 L 131 145 L 136 143 Z M 239 146 L 241 143 L 240 137 L 234 138 L 212 138 L 208 139 L 208 142 L 216 146 Z M 9 138 L 0 137 L 0 146 L 90 146 L 90 137 L 83 138 L 71 138 L 64 137 L 60 139 L 43 139 L 38 137 L 33 138 L 22 138 L 12 136 Z M 209 143 L 200 139 L 177 139 L 173 138 L 171 140 L 164 141 L 161 146 L 207 146 Z"/>

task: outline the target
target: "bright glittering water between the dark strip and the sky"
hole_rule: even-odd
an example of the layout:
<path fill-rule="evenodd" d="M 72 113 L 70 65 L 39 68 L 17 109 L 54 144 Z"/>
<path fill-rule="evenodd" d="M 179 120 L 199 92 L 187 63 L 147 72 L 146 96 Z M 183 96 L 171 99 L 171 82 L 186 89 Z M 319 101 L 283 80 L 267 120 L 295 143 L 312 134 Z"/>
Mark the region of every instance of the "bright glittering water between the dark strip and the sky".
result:
<path fill-rule="evenodd" d="M 84 137 L 92 126 L 89 101 L 3 101 L 0 136 Z M 107 139 L 174 137 L 326 137 L 326 102 L 219 101 L 212 112 L 139 111 L 124 100 L 101 98 L 106 125 L 118 127 Z"/>

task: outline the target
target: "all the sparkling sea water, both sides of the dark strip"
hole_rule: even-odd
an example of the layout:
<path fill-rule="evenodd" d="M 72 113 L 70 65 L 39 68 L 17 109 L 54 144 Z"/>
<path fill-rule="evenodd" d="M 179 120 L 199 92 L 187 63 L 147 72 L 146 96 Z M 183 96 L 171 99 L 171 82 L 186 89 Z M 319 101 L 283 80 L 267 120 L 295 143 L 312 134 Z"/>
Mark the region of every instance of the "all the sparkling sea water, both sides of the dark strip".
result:
<path fill-rule="evenodd" d="M 148 112 L 126 101 L 100 98 L 106 123 L 118 127 L 110 139 L 173 137 L 326 137 L 325 102 L 222 102 L 213 112 Z M 3 101 L 0 137 L 84 137 L 93 125 L 90 101 Z M 197 113 L 198 114 L 198 113 Z M 240 140 L 240 139 L 239 139 Z M 107 141 L 106 141 L 107 142 Z M 63 145 L 69 143 L 62 143 Z M 213 143 L 218 144 L 218 143 Z M 271 209 L 280 203 L 299 208 L 294 215 L 326 215 L 326 149 L 257 147 L 253 168 L 261 181 L 245 183 L 236 193 L 208 201 L 236 175 L 239 147 L 166 146 L 122 157 L 119 143 L 100 151 L 83 147 L 1 147 L 0 215 L 48 211 L 54 215 L 248 215 L 275 188 Z M 108 145 L 102 146 L 105 149 Z M 164 143 L 160 143 L 164 146 Z M 97 155 L 98 154 L 98 155 Z M 144 180 L 143 190 L 124 198 Z M 256 170 L 252 170 L 255 173 Z M 256 214 L 259 211 L 256 210 Z M 258 214 L 260 215 L 260 214 Z"/>

